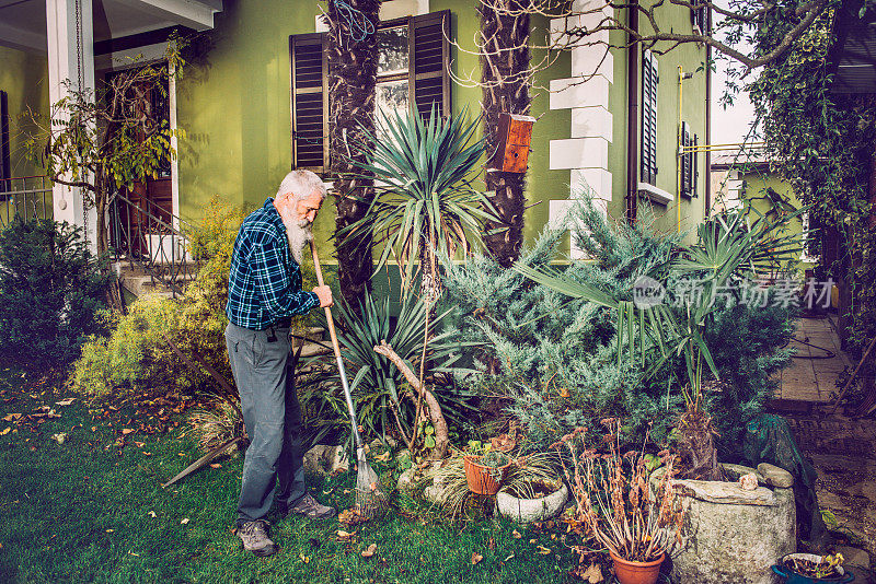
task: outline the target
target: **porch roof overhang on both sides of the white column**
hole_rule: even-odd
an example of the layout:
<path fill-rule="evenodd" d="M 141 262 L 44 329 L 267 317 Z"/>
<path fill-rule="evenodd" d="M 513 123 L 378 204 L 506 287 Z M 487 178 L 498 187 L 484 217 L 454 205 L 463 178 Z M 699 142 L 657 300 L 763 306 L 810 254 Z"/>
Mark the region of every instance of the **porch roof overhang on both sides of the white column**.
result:
<path fill-rule="evenodd" d="M 94 43 L 172 27 L 214 27 L 222 0 L 92 0 Z M 46 0 L 0 0 L 0 45 L 46 52 Z"/>

